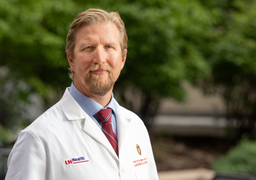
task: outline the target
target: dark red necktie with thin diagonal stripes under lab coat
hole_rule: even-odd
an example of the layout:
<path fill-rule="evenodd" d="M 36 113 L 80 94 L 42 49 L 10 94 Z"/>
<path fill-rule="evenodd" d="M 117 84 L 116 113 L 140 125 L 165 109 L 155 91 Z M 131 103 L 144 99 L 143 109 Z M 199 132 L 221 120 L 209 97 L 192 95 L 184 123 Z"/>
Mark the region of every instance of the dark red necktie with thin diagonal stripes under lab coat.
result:
<path fill-rule="evenodd" d="M 116 138 L 116 135 L 113 132 L 112 128 L 112 121 L 111 121 L 111 109 L 101 109 L 99 112 L 96 114 L 99 119 L 102 121 L 102 132 L 103 134 L 107 137 L 108 141 L 112 145 L 116 155 L 119 157 L 118 153 L 118 141 Z"/>

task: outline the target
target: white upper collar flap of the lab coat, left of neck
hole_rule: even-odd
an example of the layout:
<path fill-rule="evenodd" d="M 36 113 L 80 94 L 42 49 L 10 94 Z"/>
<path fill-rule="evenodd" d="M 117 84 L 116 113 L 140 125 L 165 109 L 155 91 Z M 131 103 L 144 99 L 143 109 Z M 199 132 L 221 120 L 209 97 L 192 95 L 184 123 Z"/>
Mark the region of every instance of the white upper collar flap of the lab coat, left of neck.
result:
<path fill-rule="evenodd" d="M 69 89 L 70 88 L 67 88 L 65 90 L 65 93 L 60 100 L 61 108 L 65 116 L 68 118 L 68 120 L 84 119 L 85 118 L 84 111 L 80 107 L 80 105 L 77 103 L 77 101 L 69 93 Z"/>

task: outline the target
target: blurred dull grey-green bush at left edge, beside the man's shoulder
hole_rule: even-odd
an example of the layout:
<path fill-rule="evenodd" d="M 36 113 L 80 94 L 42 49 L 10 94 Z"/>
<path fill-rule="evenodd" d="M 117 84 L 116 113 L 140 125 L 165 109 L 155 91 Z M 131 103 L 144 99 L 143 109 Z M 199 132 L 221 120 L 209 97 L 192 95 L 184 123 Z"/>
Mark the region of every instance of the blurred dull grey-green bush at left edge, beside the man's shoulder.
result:
<path fill-rule="evenodd" d="M 10 128 L 16 129 L 26 122 L 21 114 L 25 113 L 24 105 L 30 93 L 23 81 L 9 74 L 7 67 L 0 67 L 0 142 L 3 144 L 13 140 L 15 132 Z"/>

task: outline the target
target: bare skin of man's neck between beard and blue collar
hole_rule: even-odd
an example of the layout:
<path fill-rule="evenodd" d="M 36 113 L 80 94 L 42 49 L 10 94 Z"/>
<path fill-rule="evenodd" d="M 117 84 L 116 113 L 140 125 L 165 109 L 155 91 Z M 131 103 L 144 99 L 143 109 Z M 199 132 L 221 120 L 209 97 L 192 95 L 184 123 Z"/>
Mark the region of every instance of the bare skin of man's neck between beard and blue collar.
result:
<path fill-rule="evenodd" d="M 100 105 L 102 105 L 103 107 L 106 107 L 108 105 L 108 103 L 111 100 L 111 95 L 112 95 L 112 90 L 109 90 L 104 96 L 99 96 L 99 95 L 95 95 L 92 94 L 91 92 L 89 92 L 85 86 L 83 84 L 81 84 L 79 81 L 76 81 L 76 79 L 74 80 L 74 86 L 76 87 L 77 90 L 79 90 L 82 94 L 86 95 L 87 97 L 89 97 L 90 99 L 94 100 L 95 102 L 99 103 Z"/>

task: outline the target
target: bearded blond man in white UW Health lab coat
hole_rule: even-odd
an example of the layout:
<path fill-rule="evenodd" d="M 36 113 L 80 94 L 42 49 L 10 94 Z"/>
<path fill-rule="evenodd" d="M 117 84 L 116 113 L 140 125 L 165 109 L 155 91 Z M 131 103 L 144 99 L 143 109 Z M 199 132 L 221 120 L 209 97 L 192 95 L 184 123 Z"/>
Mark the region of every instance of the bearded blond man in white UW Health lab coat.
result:
<path fill-rule="evenodd" d="M 118 13 L 88 9 L 78 14 L 67 36 L 74 82 L 21 131 L 6 180 L 158 180 L 143 122 L 112 94 L 126 53 Z"/>

